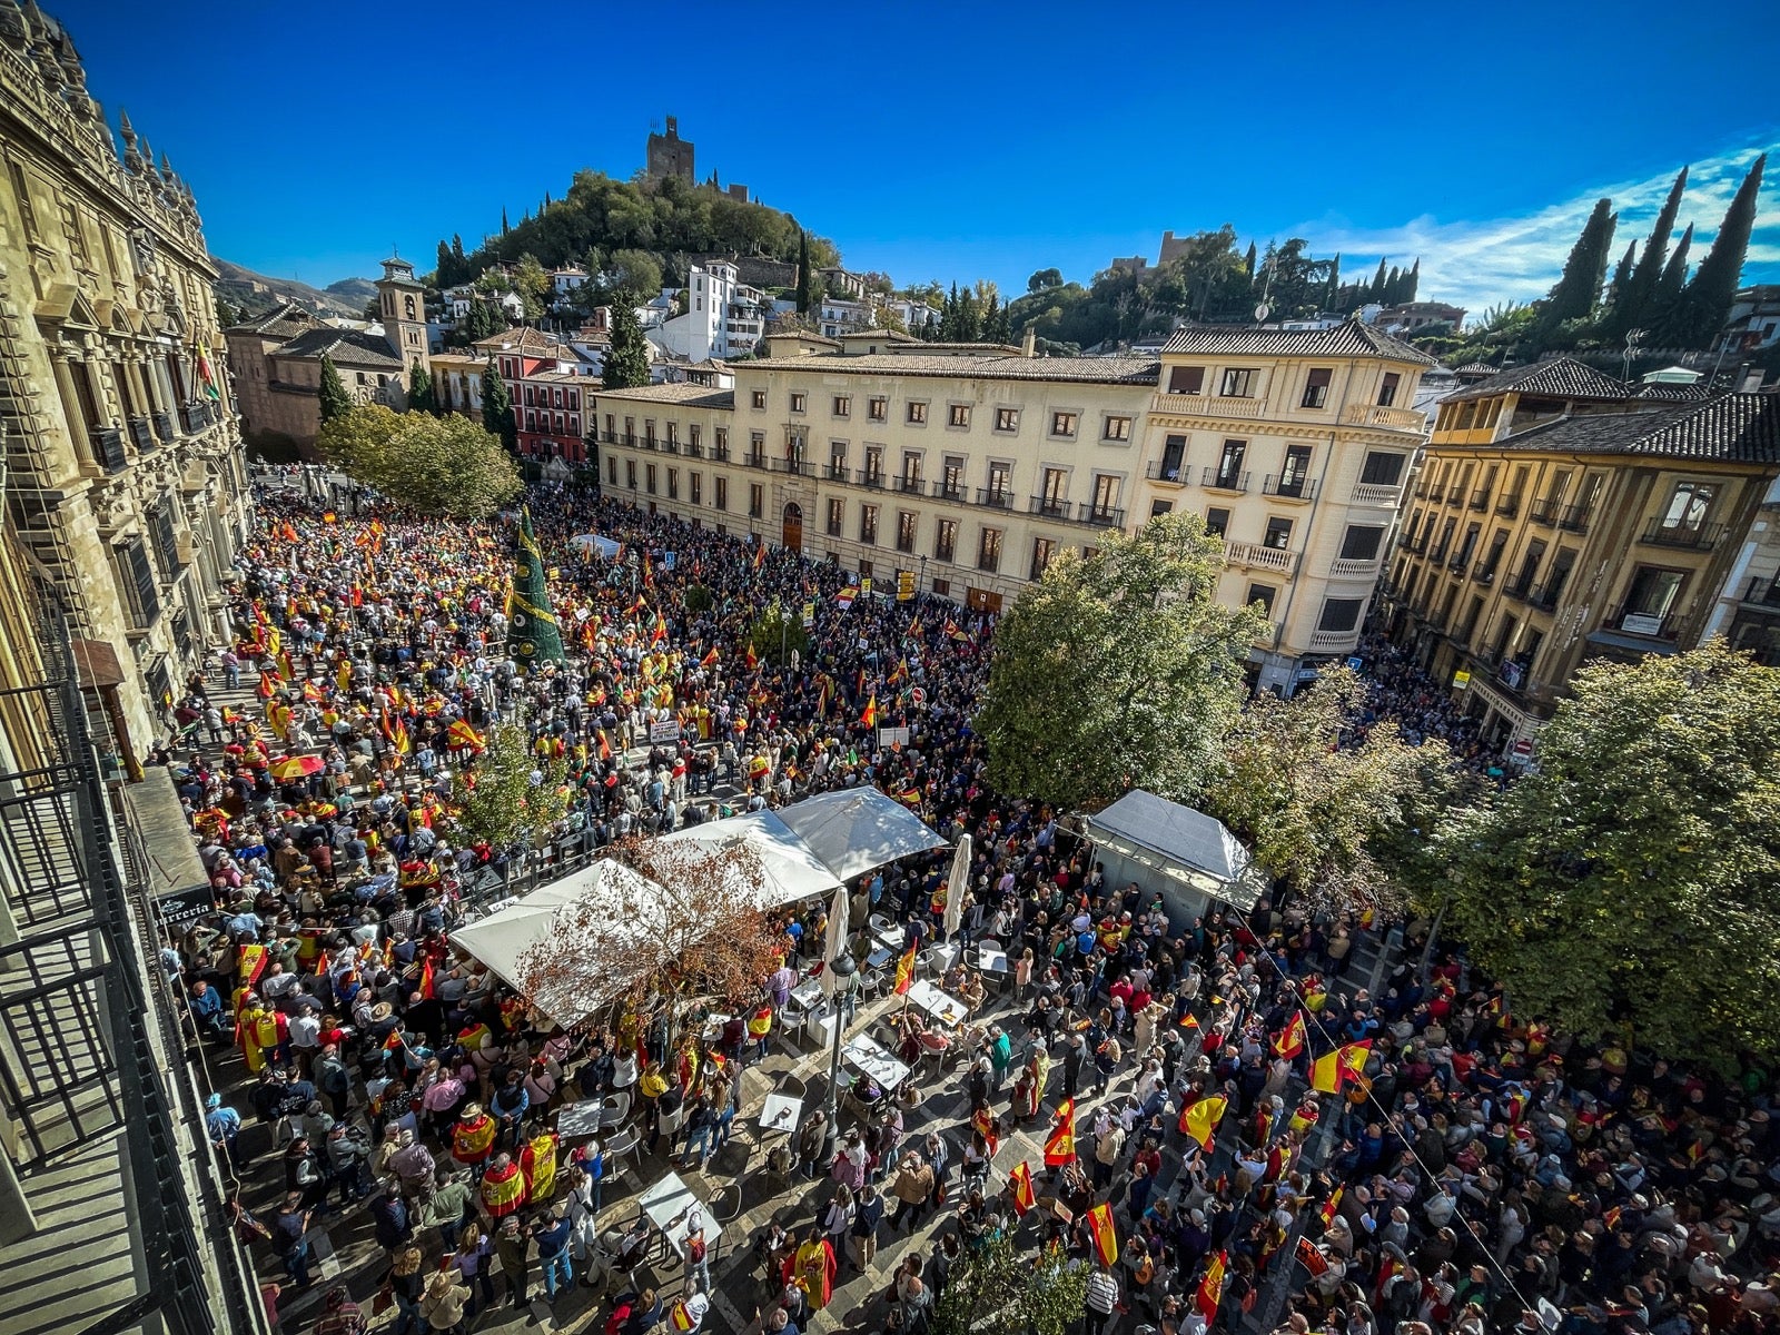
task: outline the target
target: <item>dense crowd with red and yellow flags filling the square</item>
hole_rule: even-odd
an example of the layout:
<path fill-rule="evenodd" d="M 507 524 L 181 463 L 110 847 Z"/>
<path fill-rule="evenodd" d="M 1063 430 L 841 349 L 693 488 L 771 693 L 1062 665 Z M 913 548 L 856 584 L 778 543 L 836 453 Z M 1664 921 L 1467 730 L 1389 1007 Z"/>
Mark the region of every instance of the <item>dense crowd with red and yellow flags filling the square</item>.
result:
<path fill-rule="evenodd" d="M 758 1330 L 929 1330 L 1004 1244 L 1084 1280 L 1096 1333 L 1773 1324 L 1766 1072 L 1727 1082 L 1572 1043 L 1454 958 L 1424 974 L 1385 952 L 1372 984 L 1355 965 L 1385 951 L 1387 924 L 1365 917 L 1262 902 L 1171 922 L 1052 812 L 991 790 L 968 726 L 986 618 L 862 596 L 828 562 L 578 491 L 529 500 L 566 662 L 507 657 L 500 525 L 267 502 L 237 643 L 187 684 L 158 756 L 215 895 L 164 961 L 214 1050 L 206 1125 L 269 1310 L 313 1283 L 315 1225 L 351 1212 L 376 1264 L 322 1294 L 324 1335 L 372 1307 L 395 1308 L 397 1335 L 465 1330 L 534 1292 L 561 1314 L 571 1290 L 611 1335 L 728 1328 L 705 1207 L 662 1266 L 612 1141 L 564 1143 L 555 1114 L 621 1096 L 646 1175 L 721 1173 L 767 1084 L 751 1068 L 790 1056 L 781 1022 L 821 967 L 824 906 L 787 915 L 781 961 L 724 999 L 737 1018 L 710 1041 L 675 1043 L 641 1002 L 573 1032 L 530 1013 L 449 942 L 459 886 L 520 856 L 452 838 L 452 778 L 520 719 L 564 762 L 562 831 L 593 844 L 870 783 L 974 837 L 967 885 L 942 853 L 854 888 L 856 924 L 878 915 L 917 943 L 947 936 L 956 895 L 956 936 L 1011 963 L 933 979 L 965 1004 L 958 1024 L 888 1004 L 917 1075 L 863 1082 L 851 1125 L 812 1112 L 769 1155 L 801 1185 L 730 1241 L 753 1290 L 724 1287 Z M 619 559 L 571 541 L 586 532 L 623 543 Z M 783 662 L 751 643 L 773 603 L 812 611 Z M 1369 648 L 1367 673 L 1367 724 L 1472 746 L 1394 651 Z M 650 744 L 662 721 L 678 742 Z M 879 748 L 881 726 L 908 744 Z M 863 1294 L 837 1301 L 853 1274 Z"/>

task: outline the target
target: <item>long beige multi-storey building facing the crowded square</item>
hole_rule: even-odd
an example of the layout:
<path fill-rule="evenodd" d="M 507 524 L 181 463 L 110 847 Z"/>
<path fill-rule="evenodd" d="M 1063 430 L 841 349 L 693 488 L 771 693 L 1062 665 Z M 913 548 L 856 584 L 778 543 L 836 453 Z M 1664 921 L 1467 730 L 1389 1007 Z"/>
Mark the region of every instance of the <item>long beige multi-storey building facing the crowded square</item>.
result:
<path fill-rule="evenodd" d="M 1428 360 L 1360 326 L 1184 329 L 1161 358 L 1034 358 L 883 331 L 769 338 L 735 388 L 600 392 L 602 486 L 894 589 L 997 611 L 1064 548 L 1191 507 L 1262 602 L 1255 684 L 1358 643 L 1420 441 Z"/>

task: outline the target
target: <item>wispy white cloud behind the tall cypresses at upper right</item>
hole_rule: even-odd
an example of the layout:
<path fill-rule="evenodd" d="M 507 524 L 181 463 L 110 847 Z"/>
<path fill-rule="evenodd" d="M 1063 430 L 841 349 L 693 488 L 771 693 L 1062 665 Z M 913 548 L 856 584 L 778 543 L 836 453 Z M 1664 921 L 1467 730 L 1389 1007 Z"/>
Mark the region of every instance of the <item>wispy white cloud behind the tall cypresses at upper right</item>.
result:
<path fill-rule="evenodd" d="M 1691 166 L 1675 224 L 1677 235 L 1689 221 L 1695 224 L 1691 265 L 1705 258 L 1712 233 L 1737 192 L 1737 183 L 1762 151 L 1776 153 L 1776 160 L 1771 160 L 1762 174 L 1744 281 L 1755 278 L 1753 271 L 1759 267 L 1780 265 L 1780 142 L 1750 144 Z M 1404 265 L 1420 256 L 1419 295 L 1424 301 L 1449 301 L 1477 315 L 1497 301 L 1531 301 L 1545 295 L 1558 281 L 1565 256 L 1570 255 L 1582 222 L 1602 196 L 1613 199 L 1620 215 L 1618 230 L 1613 233 L 1613 263 L 1618 263 L 1629 240 L 1643 246 L 1673 182 L 1675 173 L 1666 171 L 1645 180 L 1602 185 L 1581 190 L 1527 217 L 1442 222 L 1428 214 L 1399 228 L 1307 222 L 1294 228 L 1294 235 L 1308 237 L 1317 255 L 1340 251 L 1342 272 L 1349 278 L 1369 276 L 1380 256 Z"/>

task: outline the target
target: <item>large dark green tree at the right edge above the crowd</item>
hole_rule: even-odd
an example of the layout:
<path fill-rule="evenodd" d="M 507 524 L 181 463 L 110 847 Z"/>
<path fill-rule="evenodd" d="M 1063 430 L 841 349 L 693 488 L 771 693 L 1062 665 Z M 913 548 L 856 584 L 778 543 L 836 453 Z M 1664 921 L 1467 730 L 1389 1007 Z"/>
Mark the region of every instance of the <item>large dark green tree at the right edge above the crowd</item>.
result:
<path fill-rule="evenodd" d="M 1732 1066 L 1780 1056 L 1780 669 L 1597 662 L 1538 769 L 1442 838 L 1451 931 L 1517 1015 Z"/>

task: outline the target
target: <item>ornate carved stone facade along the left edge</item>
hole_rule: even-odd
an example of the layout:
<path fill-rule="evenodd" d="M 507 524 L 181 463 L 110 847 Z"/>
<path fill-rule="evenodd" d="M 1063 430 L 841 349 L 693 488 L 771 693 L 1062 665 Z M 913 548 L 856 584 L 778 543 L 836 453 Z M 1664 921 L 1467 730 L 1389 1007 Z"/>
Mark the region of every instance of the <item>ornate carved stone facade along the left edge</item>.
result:
<path fill-rule="evenodd" d="M 228 634 L 246 475 L 196 201 L 126 116 L 121 137 L 68 32 L 0 0 L 5 527 L 116 653 L 130 764 Z"/>

